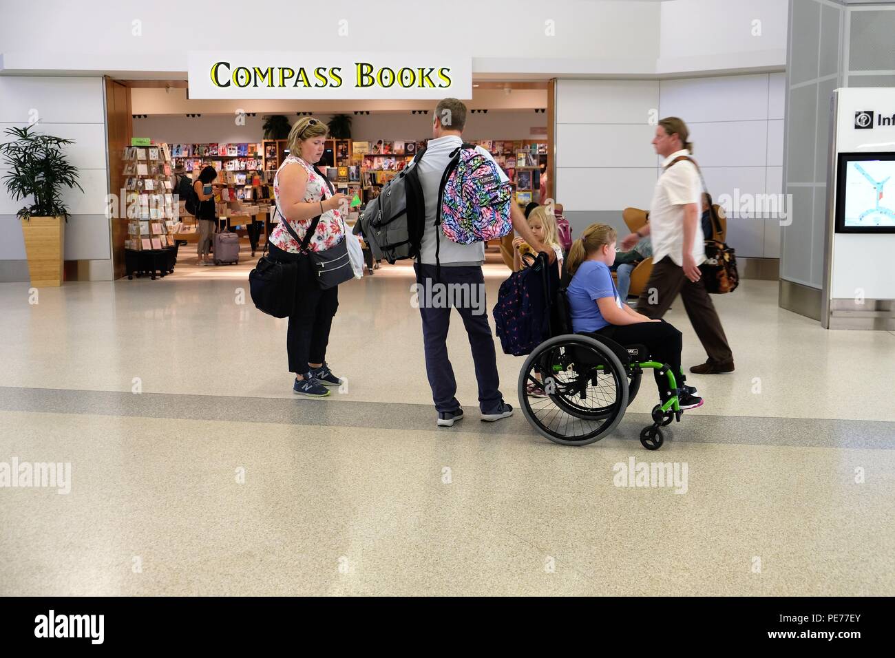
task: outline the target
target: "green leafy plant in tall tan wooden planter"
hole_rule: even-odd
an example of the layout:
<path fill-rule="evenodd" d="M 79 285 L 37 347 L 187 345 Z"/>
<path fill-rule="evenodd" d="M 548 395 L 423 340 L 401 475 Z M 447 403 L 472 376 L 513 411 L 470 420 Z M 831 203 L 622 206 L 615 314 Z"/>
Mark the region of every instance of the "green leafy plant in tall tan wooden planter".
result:
<path fill-rule="evenodd" d="M 13 141 L 0 144 L 0 154 L 9 169 L 4 175 L 6 192 L 13 201 L 34 201 L 16 213 L 25 239 L 31 285 L 61 286 L 68 221 L 63 187 L 84 191 L 78 183 L 77 167 L 63 153 L 63 148 L 74 141 L 39 134 L 30 125 L 13 126 L 4 132 L 13 137 Z"/>

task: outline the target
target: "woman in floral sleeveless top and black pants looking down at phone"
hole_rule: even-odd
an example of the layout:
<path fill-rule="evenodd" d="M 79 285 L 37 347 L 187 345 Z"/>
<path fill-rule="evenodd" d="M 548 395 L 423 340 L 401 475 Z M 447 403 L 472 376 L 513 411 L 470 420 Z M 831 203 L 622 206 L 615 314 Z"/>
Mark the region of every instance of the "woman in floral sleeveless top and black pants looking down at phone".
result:
<path fill-rule="evenodd" d="M 338 308 L 338 286 L 321 290 L 310 259 L 299 258 L 301 244 L 284 226 L 288 221 L 304 239 L 313 219 L 320 216 L 308 250 L 322 252 L 345 240 L 345 194 L 333 193 L 332 184 L 314 164 L 323 155 L 327 126 L 305 116 L 289 132 L 289 156 L 274 176 L 274 199 L 280 223 L 270 234 L 270 256 L 277 261 L 298 261 L 295 307 L 289 316 L 286 350 L 289 370 L 295 373 L 295 393 L 311 397 L 329 395 L 328 386 L 342 383 L 326 362 L 329 329 Z"/>

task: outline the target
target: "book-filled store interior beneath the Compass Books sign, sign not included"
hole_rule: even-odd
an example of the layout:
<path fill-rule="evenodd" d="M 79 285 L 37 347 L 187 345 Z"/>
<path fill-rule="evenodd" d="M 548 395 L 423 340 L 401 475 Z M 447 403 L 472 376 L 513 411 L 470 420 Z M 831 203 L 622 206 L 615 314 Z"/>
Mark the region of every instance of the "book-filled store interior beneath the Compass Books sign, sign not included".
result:
<path fill-rule="evenodd" d="M 494 155 L 507 172 L 518 203 L 524 206 L 530 201 L 546 199 L 550 177 L 548 83 L 529 82 L 517 89 L 512 83 L 485 85 L 486 89 L 481 91 L 477 85 L 473 98 L 466 101 L 470 112 L 465 138 Z M 299 116 L 312 114 L 330 128 L 318 166 L 335 189 L 353 200 L 348 217 L 351 225 L 382 186 L 425 148 L 431 135 L 434 107 L 434 102 L 430 103 L 432 107 L 413 102 L 414 108 L 407 109 L 401 107 L 406 105 L 401 101 L 379 104 L 343 101 L 308 110 L 308 103 L 294 101 L 286 106 L 276 105 L 266 112 L 262 109 L 265 101 L 256 101 L 251 111 L 243 109 L 238 113 L 239 108 L 232 109 L 231 102 L 203 101 L 201 111 L 182 112 L 195 110 L 199 102 L 188 101 L 186 90 L 135 86 L 129 88 L 129 93 L 132 141 L 151 144 L 143 154 L 150 158 L 149 167 L 156 162 L 153 156 L 162 158 L 159 164 L 171 172 L 167 176 L 171 183 L 153 181 L 151 175 L 145 178 L 147 167 L 140 160 L 132 159 L 137 149 L 126 147 L 125 153 L 130 156 L 124 161 L 126 193 L 149 195 L 159 185 L 175 190 L 180 175 L 192 179 L 202 167 L 214 167 L 217 178 L 213 189 L 219 226 L 239 236 L 240 262 L 246 266 L 251 265 L 250 259 L 263 248 L 266 235 L 279 219 L 271 209 L 273 176 L 288 154 L 289 126 Z M 134 175 L 135 167 L 139 169 L 137 175 Z M 125 250 L 139 249 L 143 244 L 153 246 L 154 243 L 145 243 L 147 239 L 176 244 L 175 278 L 195 274 L 199 239 L 196 220 L 183 201 L 177 209 L 177 217 L 169 220 L 169 226 L 161 227 L 168 235 L 143 235 L 141 226 L 131 221 L 128 235 L 124 237 Z M 143 222 L 145 227 L 146 219 Z M 158 230 L 159 226 L 149 226 L 150 231 L 153 228 Z M 140 243 L 136 244 L 136 240 Z M 227 269 L 230 268 L 204 269 L 200 276 L 234 275 Z"/>

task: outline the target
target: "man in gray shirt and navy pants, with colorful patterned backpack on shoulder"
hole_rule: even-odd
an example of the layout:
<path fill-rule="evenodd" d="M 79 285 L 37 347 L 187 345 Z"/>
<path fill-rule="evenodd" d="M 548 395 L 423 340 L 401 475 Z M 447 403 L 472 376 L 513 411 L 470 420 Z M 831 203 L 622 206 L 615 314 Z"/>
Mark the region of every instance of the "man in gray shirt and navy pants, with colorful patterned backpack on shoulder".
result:
<path fill-rule="evenodd" d="M 464 143 L 461 134 L 465 123 L 466 106 L 461 101 L 440 101 L 432 124 L 433 139 L 418 155 L 414 167 L 424 219 L 413 269 L 426 372 L 439 427 L 450 427 L 463 418 L 463 408 L 455 397 L 454 370 L 447 356 L 452 306 L 460 313 L 469 336 L 482 421 L 498 421 L 513 414 L 513 407 L 504 402 L 499 390 L 494 337 L 484 311 L 485 242 L 515 228 L 536 251 L 549 252 L 551 262 L 556 258 L 553 250 L 544 249 L 532 235 L 512 198 L 509 179 L 494 158 L 482 147 Z"/>

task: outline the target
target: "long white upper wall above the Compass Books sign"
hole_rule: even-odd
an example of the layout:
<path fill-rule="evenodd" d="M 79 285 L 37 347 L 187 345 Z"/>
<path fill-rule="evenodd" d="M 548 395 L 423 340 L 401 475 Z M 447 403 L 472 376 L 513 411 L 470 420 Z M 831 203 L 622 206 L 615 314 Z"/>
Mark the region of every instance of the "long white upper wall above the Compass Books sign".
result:
<path fill-rule="evenodd" d="M 459 50 L 473 57 L 473 73 L 541 78 L 717 71 L 731 64 L 748 69 L 786 61 L 786 0 L 456 0 L 449 8 L 356 1 L 328 4 L 311 29 L 301 30 L 305 3 L 218 0 L 212 7 L 105 0 L 85 11 L 78 3 L 4 0 L 3 65 L 15 73 L 164 78 L 187 70 L 188 50 L 226 44 L 234 50 L 294 44 L 294 50 L 309 52 Z M 763 41 L 744 43 L 742 21 L 769 13 Z M 343 20 L 347 32 L 340 36 Z M 774 21 L 782 23 L 782 32 Z M 664 22 L 692 30 L 678 38 L 665 35 Z M 687 41 L 709 46 L 696 47 L 693 55 Z"/>

